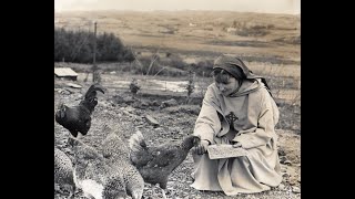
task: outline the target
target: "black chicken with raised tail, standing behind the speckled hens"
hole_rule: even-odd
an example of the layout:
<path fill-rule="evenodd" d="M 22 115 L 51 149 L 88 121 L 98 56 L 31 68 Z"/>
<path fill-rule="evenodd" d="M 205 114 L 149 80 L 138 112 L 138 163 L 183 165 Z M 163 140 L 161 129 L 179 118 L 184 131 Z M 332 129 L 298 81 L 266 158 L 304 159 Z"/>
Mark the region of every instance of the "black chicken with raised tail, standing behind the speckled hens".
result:
<path fill-rule="evenodd" d="M 100 84 L 93 84 L 79 105 L 68 107 L 61 104 L 55 113 L 57 123 L 67 128 L 74 137 L 78 136 L 78 133 L 87 135 L 91 126 L 91 114 L 98 104 L 97 91 L 104 94 L 103 90 Z"/>

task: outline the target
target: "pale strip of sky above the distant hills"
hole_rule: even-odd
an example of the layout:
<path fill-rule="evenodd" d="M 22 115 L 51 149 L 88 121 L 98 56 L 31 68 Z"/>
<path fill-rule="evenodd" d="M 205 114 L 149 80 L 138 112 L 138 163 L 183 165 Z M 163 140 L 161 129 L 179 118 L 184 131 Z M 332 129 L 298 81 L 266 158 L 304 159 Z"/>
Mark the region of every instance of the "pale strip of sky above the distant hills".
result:
<path fill-rule="evenodd" d="M 301 0 L 54 0 L 55 11 L 70 10 L 225 10 L 301 13 Z"/>

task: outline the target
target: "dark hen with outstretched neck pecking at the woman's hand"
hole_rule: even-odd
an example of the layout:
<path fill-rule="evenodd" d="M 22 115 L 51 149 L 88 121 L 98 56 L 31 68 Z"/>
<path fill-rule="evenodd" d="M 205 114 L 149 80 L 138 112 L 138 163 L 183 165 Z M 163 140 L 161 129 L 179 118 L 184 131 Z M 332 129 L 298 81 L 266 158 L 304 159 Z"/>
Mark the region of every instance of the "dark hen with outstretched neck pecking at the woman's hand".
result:
<path fill-rule="evenodd" d="M 179 143 L 168 143 L 148 147 L 141 132 L 130 137 L 130 160 L 139 169 L 145 182 L 162 189 L 166 198 L 170 174 L 186 158 L 190 149 L 200 142 L 200 137 L 190 135 Z M 154 192 L 154 191 L 153 191 Z"/>

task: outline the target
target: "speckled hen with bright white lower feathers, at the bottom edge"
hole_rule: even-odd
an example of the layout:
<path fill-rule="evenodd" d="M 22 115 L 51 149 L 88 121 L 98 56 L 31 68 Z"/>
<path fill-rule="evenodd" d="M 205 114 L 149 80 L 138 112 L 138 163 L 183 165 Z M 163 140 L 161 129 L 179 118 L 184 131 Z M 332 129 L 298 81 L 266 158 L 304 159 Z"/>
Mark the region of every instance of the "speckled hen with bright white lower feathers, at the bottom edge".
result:
<path fill-rule="evenodd" d="M 74 153 L 75 185 L 94 199 L 126 198 L 122 174 L 105 163 L 102 154 L 81 140 L 69 137 Z"/>

